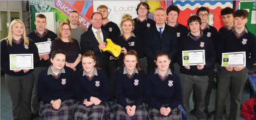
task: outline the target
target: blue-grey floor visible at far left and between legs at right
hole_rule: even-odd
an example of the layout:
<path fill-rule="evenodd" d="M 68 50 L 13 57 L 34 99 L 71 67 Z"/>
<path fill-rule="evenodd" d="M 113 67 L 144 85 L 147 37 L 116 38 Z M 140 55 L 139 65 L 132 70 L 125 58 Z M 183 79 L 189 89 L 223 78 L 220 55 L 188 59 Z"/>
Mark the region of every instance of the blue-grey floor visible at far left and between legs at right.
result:
<path fill-rule="evenodd" d="M 4 76 L 1 76 L 0 79 L 0 84 L 1 84 L 1 88 L 0 88 L 0 99 L 1 99 L 1 111 L 0 111 L 0 120 L 13 120 L 13 116 L 12 116 L 12 101 L 10 99 L 10 96 L 6 90 L 6 85 L 4 82 Z M 215 86 L 215 85 L 214 85 Z M 215 93 L 216 93 L 216 88 L 213 88 L 212 91 L 212 95 L 211 95 L 211 99 L 210 99 L 210 105 L 209 105 L 209 112 L 213 111 L 214 109 L 214 100 L 215 100 Z M 244 103 L 246 100 L 248 100 L 250 98 L 250 92 L 249 92 L 249 88 L 247 88 L 246 90 L 243 91 L 243 95 L 242 95 L 242 103 Z M 224 120 L 229 120 L 228 119 L 228 115 L 229 115 L 229 108 L 230 108 L 230 104 L 229 101 L 230 97 L 228 95 L 227 100 L 226 100 L 226 104 L 227 104 L 227 114 L 224 117 Z M 192 104 L 192 96 L 190 97 L 190 108 L 192 110 L 193 108 L 193 104 Z M 40 120 L 39 118 L 34 119 L 34 120 Z M 189 116 L 188 120 L 197 120 L 196 116 Z M 211 120 L 213 120 L 213 116 L 211 118 Z M 240 117 L 240 120 L 245 120 L 243 118 L 243 116 Z"/>

